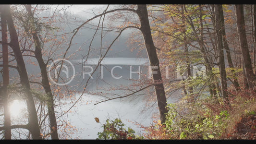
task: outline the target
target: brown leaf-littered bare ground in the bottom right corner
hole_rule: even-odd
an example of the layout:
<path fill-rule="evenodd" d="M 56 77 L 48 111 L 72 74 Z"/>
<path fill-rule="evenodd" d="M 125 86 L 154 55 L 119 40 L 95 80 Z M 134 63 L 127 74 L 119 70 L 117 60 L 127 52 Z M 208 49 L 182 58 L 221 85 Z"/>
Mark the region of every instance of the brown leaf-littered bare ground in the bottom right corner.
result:
<path fill-rule="evenodd" d="M 242 116 L 227 139 L 256 140 L 256 114 Z"/>

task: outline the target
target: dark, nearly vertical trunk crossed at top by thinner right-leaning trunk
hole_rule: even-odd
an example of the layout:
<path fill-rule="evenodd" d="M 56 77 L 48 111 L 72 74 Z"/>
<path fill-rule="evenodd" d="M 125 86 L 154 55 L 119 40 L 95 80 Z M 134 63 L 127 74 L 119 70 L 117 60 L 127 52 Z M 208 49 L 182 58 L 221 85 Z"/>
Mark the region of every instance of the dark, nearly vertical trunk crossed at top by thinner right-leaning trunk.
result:
<path fill-rule="evenodd" d="M 224 59 L 224 49 L 222 42 L 222 32 L 221 32 L 221 11 L 222 5 L 215 5 L 215 25 L 216 25 L 216 36 L 217 36 L 217 45 L 219 52 L 219 74 L 220 74 L 220 84 L 221 84 L 221 93 L 223 96 L 223 101 L 226 106 L 229 106 L 229 99 L 227 94 L 227 76 L 225 68 L 225 59 Z M 222 13 L 223 14 L 223 13 Z"/>

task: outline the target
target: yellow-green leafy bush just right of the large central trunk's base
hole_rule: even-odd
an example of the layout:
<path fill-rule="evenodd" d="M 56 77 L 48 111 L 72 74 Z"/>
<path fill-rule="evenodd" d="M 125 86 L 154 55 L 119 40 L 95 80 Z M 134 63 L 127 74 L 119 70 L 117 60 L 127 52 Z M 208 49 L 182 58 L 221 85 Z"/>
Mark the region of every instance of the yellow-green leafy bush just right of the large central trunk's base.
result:
<path fill-rule="evenodd" d="M 168 106 L 166 129 L 177 139 L 218 139 L 227 127 L 229 114 L 226 110 L 215 116 L 211 116 L 207 108 L 203 115 L 196 112 L 182 115 L 174 104 Z"/>

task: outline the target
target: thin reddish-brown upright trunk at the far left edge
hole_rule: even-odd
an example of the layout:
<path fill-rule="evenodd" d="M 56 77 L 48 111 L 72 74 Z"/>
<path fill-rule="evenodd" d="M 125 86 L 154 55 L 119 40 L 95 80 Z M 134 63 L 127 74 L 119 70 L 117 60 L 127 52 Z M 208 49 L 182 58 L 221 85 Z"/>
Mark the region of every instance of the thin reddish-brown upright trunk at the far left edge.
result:
<path fill-rule="evenodd" d="M 2 10 L 0 8 L 0 10 Z M 2 49 L 3 49 L 3 107 L 4 107 L 4 126 L 7 127 L 4 130 L 4 139 L 10 140 L 11 129 L 11 111 L 9 104 L 9 96 L 7 86 L 9 85 L 9 68 L 8 68 L 8 37 L 7 37 L 7 23 L 5 17 L 1 12 L 1 33 L 2 33 Z"/>

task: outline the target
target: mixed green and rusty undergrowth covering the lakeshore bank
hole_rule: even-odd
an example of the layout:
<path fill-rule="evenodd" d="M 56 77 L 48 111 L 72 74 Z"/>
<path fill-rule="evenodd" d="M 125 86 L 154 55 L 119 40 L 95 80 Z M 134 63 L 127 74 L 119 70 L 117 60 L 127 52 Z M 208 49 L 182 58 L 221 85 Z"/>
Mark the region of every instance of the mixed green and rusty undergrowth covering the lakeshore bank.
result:
<path fill-rule="evenodd" d="M 255 115 L 256 94 L 253 91 L 229 89 L 231 107 L 223 105 L 222 97 L 198 97 L 195 102 L 186 99 L 178 103 L 168 104 L 166 121 L 154 119 L 150 126 L 143 126 L 143 137 L 134 135 L 128 128 L 126 131 L 121 120 L 107 120 L 100 139 L 228 139 L 234 131 L 236 123 L 242 117 Z"/>

